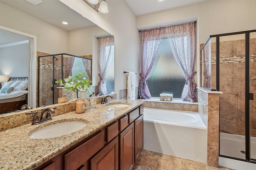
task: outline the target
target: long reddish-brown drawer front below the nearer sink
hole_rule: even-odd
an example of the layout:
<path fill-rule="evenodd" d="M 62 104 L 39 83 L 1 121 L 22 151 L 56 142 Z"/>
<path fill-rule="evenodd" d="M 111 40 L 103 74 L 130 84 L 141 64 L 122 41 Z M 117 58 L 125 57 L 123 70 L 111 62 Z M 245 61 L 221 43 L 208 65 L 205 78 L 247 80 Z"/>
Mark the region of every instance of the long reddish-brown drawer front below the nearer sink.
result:
<path fill-rule="evenodd" d="M 76 170 L 102 147 L 104 147 L 103 131 L 76 149 L 64 154 L 64 170 Z"/>

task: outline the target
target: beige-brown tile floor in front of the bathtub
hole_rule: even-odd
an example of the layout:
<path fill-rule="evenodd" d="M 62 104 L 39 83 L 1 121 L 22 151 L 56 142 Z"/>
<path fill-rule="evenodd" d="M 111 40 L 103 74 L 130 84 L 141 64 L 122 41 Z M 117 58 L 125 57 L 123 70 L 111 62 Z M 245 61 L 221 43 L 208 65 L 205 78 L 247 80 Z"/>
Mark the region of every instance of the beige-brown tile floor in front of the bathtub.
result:
<path fill-rule="evenodd" d="M 143 150 L 133 170 L 233 170 L 230 168 L 213 168 L 205 163 L 185 158 Z"/>

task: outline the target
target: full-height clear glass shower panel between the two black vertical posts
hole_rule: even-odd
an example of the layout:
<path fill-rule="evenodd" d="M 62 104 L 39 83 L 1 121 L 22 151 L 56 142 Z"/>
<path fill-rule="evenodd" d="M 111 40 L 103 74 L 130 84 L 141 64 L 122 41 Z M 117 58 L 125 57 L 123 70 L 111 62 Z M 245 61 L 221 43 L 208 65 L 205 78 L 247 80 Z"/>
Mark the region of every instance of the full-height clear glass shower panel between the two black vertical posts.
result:
<path fill-rule="evenodd" d="M 245 160 L 245 34 L 219 40 L 220 155 Z"/>

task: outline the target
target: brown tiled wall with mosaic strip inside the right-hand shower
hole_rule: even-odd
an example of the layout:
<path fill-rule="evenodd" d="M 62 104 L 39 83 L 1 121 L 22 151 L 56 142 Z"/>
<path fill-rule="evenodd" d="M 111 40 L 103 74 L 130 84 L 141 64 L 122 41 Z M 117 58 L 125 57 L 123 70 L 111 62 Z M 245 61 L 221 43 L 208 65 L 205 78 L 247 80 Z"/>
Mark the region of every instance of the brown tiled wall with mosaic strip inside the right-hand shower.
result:
<path fill-rule="evenodd" d="M 256 39 L 250 44 L 250 92 L 256 94 Z M 212 43 L 212 57 L 215 43 Z M 220 42 L 220 132 L 245 135 L 245 47 L 244 40 Z M 212 58 L 212 68 L 216 58 Z M 212 69 L 212 83 L 215 82 Z M 250 102 L 251 135 L 256 137 L 256 102 Z"/>

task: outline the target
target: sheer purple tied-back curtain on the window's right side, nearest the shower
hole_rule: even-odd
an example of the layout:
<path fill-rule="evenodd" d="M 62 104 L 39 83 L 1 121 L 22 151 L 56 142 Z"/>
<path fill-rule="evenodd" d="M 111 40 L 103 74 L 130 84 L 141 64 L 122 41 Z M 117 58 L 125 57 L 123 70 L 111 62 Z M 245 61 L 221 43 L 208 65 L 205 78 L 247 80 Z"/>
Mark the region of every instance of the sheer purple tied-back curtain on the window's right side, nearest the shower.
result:
<path fill-rule="evenodd" d="M 197 89 L 194 82 L 195 25 L 194 22 L 166 27 L 167 37 L 174 58 L 186 78 L 181 100 L 197 102 Z"/>

